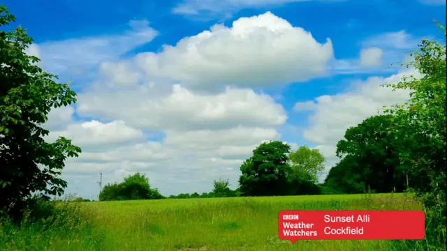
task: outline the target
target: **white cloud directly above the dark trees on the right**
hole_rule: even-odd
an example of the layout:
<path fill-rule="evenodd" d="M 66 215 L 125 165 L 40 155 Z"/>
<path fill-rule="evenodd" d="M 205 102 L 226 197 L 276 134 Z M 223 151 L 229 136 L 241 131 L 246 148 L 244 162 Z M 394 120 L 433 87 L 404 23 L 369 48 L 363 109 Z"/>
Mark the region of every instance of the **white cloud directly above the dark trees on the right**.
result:
<path fill-rule="evenodd" d="M 378 114 L 384 105 L 402 103 L 409 98 L 409 91 L 381 87 L 385 83 L 398 82 L 403 76 L 420 76 L 415 70 L 399 73 L 387 78 L 369 77 L 365 82 L 353 83 L 352 89 L 333 96 L 319 96 L 314 101 L 314 112 L 309 116 L 309 127 L 303 137 L 316 144 L 316 148 L 327 158 L 326 168 L 333 167 L 337 142 L 344 138 L 344 132 L 357 126 L 369 116 Z M 308 105 L 308 102 L 305 104 Z M 313 101 L 311 101 L 313 102 Z M 300 103 L 297 103 L 299 107 Z M 324 177 L 323 177 L 324 178 Z"/>

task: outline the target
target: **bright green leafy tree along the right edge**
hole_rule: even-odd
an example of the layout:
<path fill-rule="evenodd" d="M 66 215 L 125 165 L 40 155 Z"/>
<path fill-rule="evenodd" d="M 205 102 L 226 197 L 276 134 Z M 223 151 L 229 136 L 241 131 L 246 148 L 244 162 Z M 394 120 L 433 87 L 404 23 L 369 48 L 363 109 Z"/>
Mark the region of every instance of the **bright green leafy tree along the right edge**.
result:
<path fill-rule="evenodd" d="M 446 38 L 446 29 L 440 26 Z M 426 240 L 440 238 L 446 244 L 446 45 L 422 40 L 407 67 L 415 68 L 423 77 L 406 77 L 393 89 L 407 89 L 410 99 L 403 105 L 385 109 L 393 114 L 394 133 L 403 142 L 399 149 L 401 165 L 413 176 L 428 176 L 430 182 L 413 184 L 431 218 Z"/>

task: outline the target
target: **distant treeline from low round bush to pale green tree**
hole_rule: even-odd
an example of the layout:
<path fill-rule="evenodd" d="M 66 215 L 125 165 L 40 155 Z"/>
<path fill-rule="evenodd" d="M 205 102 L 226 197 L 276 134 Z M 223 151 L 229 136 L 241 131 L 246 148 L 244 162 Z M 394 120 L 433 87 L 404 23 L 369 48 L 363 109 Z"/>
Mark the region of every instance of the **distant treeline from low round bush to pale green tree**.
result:
<path fill-rule="evenodd" d="M 318 176 L 325 159 L 317 149 L 302 146 L 291 152 L 291 146 L 274 141 L 259 145 L 251 158 L 240 167 L 239 185 L 230 188 L 228 180 L 213 182 L 210 192 L 170 195 L 171 199 L 215 198 L 239 196 L 318 195 L 321 185 Z M 151 188 L 145 174 L 133 174 L 122 183 L 105 185 L 99 195 L 101 201 L 129 199 L 164 199 L 156 188 Z"/>

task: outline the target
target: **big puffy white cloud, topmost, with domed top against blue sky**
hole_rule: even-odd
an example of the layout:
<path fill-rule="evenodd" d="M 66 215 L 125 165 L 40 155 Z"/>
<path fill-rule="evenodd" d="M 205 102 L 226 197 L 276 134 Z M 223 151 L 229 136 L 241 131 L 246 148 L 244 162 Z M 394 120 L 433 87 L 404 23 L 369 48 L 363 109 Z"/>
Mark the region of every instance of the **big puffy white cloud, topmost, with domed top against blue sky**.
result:
<path fill-rule="evenodd" d="M 329 39 L 320 44 L 311 33 L 268 12 L 241 17 L 232 27 L 215 25 L 162 52 L 140 54 L 137 61 L 152 77 L 171 77 L 188 89 L 209 91 L 304 82 L 327 74 L 332 56 Z"/>

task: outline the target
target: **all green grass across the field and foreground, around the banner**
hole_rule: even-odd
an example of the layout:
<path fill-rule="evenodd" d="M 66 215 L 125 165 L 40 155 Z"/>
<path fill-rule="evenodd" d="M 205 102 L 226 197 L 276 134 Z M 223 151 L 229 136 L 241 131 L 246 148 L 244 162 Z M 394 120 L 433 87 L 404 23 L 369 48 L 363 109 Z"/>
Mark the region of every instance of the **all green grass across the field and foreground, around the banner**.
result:
<path fill-rule="evenodd" d="M 282 210 L 420 210 L 401 194 L 163 199 L 59 205 L 71 213 L 21 230 L 0 250 L 415 250 L 409 241 L 281 241 Z M 13 231 L 15 233 L 11 234 Z M 420 249 L 417 249 L 420 250 Z"/>

